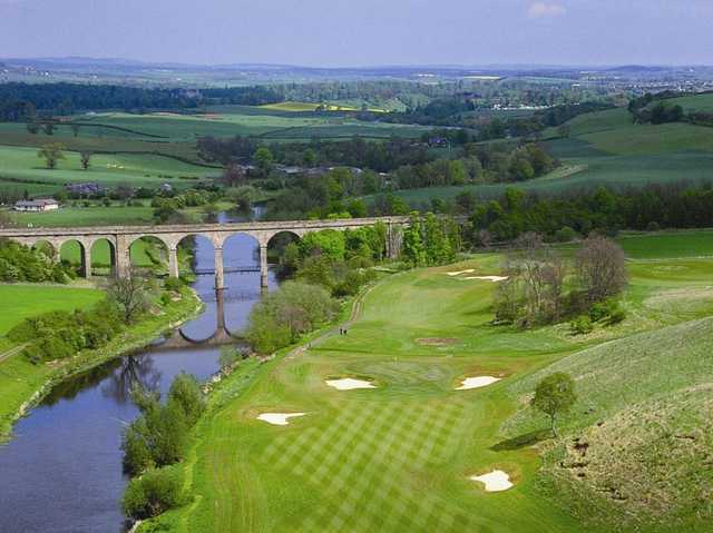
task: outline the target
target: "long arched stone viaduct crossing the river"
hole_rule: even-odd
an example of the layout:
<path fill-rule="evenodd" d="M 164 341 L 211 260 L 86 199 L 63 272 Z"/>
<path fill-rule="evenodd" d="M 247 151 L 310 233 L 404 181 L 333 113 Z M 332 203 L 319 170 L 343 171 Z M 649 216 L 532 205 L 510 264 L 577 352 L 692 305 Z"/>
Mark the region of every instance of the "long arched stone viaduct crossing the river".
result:
<path fill-rule="evenodd" d="M 166 226 L 98 226 L 72 228 L 8 228 L 0 229 L 0 238 L 8 238 L 28 246 L 49 243 L 57 257 L 62 245 L 77 241 L 81 248 L 81 272 L 91 276 L 91 247 L 98 240 L 107 240 L 111 249 L 111 266 L 116 276 L 130 273 L 129 248 L 143 237 L 160 240 L 168 250 L 168 270 L 172 277 L 178 276 L 178 244 L 192 236 L 203 236 L 213 243 L 215 253 L 215 287 L 225 286 L 223 275 L 223 244 L 234 235 L 250 235 L 260 246 L 261 286 L 267 286 L 267 245 L 277 234 L 290 233 L 302 237 L 310 231 L 321 229 L 355 229 L 382 223 L 387 226 L 387 254 L 398 255 L 401 247 L 401 228 L 409 224 L 409 217 L 345 218 L 336 220 L 285 220 L 256 221 L 238 224 L 198 224 Z"/>

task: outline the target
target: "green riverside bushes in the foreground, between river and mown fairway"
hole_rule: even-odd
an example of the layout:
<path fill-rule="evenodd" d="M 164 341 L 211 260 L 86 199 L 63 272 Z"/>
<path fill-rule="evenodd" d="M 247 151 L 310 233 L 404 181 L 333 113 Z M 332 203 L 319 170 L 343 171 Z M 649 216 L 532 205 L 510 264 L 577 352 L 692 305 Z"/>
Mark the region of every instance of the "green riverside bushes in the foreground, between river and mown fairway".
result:
<path fill-rule="evenodd" d="M 205 399 L 198 382 L 188 374 L 174 378 L 164 404 L 159 393 L 140 386 L 131 389 L 131 399 L 140 414 L 123 435 L 124 468 L 134 478 L 121 505 L 127 516 L 140 520 L 185 501 L 180 473 L 170 465 L 184 458 Z"/>

